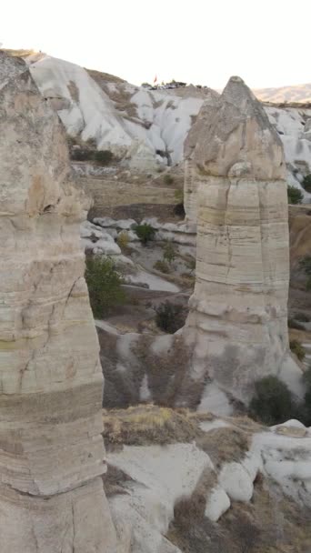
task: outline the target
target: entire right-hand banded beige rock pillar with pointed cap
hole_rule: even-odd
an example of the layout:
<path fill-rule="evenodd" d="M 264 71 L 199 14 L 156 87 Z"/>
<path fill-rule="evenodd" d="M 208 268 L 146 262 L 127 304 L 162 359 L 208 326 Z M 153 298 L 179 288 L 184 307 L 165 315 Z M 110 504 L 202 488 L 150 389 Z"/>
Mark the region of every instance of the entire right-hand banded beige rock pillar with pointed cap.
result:
<path fill-rule="evenodd" d="M 192 378 L 207 381 L 209 398 L 213 380 L 247 402 L 254 380 L 269 374 L 299 393 L 300 371 L 288 353 L 283 147 L 239 77 L 206 119 L 192 158 L 199 183 L 196 287 L 184 329 L 194 351 Z"/>

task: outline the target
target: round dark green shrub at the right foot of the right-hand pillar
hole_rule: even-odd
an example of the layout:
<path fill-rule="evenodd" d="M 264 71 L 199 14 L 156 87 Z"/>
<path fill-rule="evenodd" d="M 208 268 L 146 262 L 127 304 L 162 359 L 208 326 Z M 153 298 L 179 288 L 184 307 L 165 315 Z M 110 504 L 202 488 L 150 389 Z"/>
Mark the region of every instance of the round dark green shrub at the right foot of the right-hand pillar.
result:
<path fill-rule="evenodd" d="M 277 377 L 264 377 L 255 384 L 250 414 L 266 425 L 284 422 L 293 416 L 295 404 L 286 384 Z"/>

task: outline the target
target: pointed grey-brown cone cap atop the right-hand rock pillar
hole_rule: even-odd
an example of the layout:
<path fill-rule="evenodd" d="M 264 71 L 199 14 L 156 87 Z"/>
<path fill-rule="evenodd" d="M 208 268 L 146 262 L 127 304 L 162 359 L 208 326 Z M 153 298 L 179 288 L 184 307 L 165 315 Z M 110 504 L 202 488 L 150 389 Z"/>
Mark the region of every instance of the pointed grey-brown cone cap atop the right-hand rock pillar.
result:
<path fill-rule="evenodd" d="M 239 76 L 232 76 L 206 121 L 194 160 L 207 175 L 285 179 L 283 146 L 264 106 Z"/>

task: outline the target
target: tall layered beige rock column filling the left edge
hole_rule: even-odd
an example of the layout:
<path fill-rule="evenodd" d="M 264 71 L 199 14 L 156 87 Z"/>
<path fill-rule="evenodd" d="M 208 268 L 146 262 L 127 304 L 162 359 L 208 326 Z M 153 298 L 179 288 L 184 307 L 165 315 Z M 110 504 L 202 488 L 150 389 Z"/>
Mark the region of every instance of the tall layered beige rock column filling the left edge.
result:
<path fill-rule="evenodd" d="M 102 484 L 102 372 L 65 136 L 0 53 L 2 553 L 115 553 Z"/>

